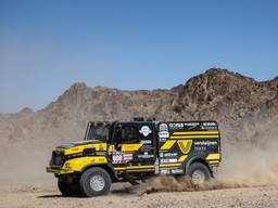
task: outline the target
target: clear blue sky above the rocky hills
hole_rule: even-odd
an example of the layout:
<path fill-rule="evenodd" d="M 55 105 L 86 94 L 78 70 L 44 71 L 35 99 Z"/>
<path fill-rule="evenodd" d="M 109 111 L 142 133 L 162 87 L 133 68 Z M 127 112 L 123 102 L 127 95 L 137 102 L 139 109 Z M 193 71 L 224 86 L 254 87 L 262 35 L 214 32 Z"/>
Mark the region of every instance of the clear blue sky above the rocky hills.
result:
<path fill-rule="evenodd" d="M 0 0 L 0 113 L 74 82 L 169 89 L 212 67 L 278 76 L 276 0 Z"/>

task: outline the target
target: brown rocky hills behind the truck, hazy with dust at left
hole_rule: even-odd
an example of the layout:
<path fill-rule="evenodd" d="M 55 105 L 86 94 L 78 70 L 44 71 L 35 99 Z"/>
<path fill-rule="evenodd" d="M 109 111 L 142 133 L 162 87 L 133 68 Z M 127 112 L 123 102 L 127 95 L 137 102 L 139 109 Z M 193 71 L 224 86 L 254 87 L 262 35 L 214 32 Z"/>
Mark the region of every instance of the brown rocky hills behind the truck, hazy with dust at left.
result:
<path fill-rule="evenodd" d="M 83 139 L 89 120 L 214 119 L 224 146 L 267 146 L 278 140 L 278 79 L 258 82 L 212 68 L 169 90 L 122 91 L 75 83 L 46 108 L 0 115 L 0 165 L 18 158 L 46 165 L 56 144 Z M 7 158 L 8 159 L 3 159 Z M 27 158 L 27 159 L 26 159 Z M 35 159 L 34 159 L 35 158 Z M 11 161 L 12 160 L 12 161 Z"/>

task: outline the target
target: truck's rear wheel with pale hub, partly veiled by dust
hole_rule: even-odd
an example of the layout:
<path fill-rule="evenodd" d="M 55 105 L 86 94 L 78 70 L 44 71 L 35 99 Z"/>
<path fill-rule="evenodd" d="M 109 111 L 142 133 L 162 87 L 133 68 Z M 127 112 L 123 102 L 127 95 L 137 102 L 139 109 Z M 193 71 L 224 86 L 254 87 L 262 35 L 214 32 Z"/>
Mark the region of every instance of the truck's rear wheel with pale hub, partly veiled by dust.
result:
<path fill-rule="evenodd" d="M 189 166 L 189 177 L 193 183 L 201 184 L 208 181 L 212 176 L 208 168 L 204 164 L 193 162 Z M 198 177 L 200 178 L 198 179 Z"/>

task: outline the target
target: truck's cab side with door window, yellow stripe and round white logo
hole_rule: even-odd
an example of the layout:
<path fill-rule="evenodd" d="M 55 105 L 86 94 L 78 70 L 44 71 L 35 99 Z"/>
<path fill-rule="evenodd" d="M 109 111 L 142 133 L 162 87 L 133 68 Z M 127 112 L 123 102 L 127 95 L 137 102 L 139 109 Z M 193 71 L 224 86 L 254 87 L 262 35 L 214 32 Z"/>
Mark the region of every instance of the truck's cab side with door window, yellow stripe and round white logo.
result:
<path fill-rule="evenodd" d="M 154 129 L 151 122 L 118 123 L 113 136 L 112 162 L 116 169 L 141 171 L 154 164 Z M 134 169 L 132 169 L 134 168 Z"/>

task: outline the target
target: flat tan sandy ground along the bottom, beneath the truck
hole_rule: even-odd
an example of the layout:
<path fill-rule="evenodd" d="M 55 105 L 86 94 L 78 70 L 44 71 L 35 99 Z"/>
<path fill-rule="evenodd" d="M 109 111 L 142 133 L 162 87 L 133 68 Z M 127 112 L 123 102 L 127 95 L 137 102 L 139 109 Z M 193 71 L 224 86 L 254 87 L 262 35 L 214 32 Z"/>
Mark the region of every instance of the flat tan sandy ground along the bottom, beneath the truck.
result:
<path fill-rule="evenodd" d="M 195 192 L 152 193 L 126 192 L 126 184 L 116 184 L 108 196 L 94 198 L 63 197 L 54 186 L 4 185 L 0 190 L 0 208 L 81 208 L 81 207 L 242 207 L 277 208 L 278 186 L 260 186 Z"/>

